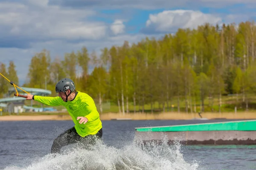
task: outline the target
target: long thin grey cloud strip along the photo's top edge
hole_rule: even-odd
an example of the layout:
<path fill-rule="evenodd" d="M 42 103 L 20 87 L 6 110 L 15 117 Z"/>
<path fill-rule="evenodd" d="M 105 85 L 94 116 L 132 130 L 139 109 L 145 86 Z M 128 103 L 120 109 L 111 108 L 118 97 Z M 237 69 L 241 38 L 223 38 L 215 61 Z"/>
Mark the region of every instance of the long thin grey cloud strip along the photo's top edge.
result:
<path fill-rule="evenodd" d="M 234 4 L 256 5 L 255 0 L 54 0 L 51 4 L 69 6 L 73 8 L 136 8 L 136 9 L 170 9 L 170 8 L 190 8 L 200 7 L 229 7 Z"/>

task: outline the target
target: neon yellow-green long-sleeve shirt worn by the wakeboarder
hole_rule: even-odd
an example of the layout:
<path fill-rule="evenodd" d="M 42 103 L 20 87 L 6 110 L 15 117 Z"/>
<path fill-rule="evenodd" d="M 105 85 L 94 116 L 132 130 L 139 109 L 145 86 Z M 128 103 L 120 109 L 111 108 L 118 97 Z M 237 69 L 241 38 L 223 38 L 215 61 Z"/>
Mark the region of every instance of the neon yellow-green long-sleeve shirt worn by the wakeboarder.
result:
<path fill-rule="evenodd" d="M 67 108 L 68 113 L 75 123 L 76 132 L 84 137 L 94 135 L 102 128 L 102 122 L 99 119 L 99 112 L 93 99 L 86 93 L 77 91 L 75 99 L 64 102 L 61 97 L 34 96 L 34 100 L 45 105 L 59 106 L 63 105 Z M 84 116 L 88 119 L 87 123 L 80 124 L 77 117 Z"/>

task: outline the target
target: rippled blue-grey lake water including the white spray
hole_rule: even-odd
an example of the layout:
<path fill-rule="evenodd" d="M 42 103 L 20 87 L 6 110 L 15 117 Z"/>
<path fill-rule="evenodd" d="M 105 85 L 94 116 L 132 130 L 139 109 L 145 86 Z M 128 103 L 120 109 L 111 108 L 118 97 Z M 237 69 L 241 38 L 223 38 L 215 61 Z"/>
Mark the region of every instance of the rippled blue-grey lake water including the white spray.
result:
<path fill-rule="evenodd" d="M 75 145 L 52 157 L 53 139 L 72 121 L 0 122 L 0 169 L 4 170 L 256 170 L 255 145 L 172 145 L 147 149 L 133 143 L 134 127 L 227 120 L 102 121 L 95 150 Z M 231 121 L 231 120 L 229 120 Z"/>

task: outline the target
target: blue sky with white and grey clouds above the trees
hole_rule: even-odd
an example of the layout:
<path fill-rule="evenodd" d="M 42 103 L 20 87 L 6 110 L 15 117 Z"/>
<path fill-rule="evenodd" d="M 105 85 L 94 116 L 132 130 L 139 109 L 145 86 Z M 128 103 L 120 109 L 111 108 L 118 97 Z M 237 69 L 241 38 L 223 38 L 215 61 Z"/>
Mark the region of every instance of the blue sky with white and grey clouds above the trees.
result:
<path fill-rule="evenodd" d="M 14 61 L 22 85 L 43 49 L 52 61 L 82 47 L 99 55 L 177 28 L 252 21 L 255 7 L 256 0 L 0 0 L 0 62 Z"/>

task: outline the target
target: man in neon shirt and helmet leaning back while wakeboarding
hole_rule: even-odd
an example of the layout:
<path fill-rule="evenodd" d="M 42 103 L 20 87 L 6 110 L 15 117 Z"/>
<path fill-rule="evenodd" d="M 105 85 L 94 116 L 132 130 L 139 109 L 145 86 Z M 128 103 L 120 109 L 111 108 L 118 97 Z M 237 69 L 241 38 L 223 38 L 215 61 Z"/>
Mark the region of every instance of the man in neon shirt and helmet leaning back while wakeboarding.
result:
<path fill-rule="evenodd" d="M 85 93 L 75 90 L 71 79 L 61 79 L 55 86 L 56 97 L 27 95 L 27 100 L 34 99 L 45 105 L 67 108 L 75 126 L 61 133 L 52 144 L 51 153 L 60 153 L 61 147 L 81 142 L 84 146 L 95 144 L 102 138 L 102 122 L 93 99 Z"/>

